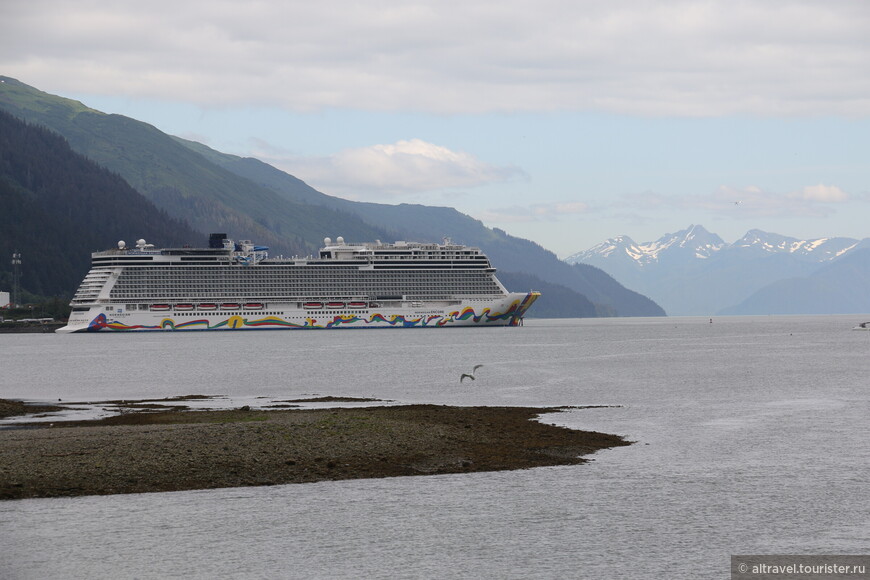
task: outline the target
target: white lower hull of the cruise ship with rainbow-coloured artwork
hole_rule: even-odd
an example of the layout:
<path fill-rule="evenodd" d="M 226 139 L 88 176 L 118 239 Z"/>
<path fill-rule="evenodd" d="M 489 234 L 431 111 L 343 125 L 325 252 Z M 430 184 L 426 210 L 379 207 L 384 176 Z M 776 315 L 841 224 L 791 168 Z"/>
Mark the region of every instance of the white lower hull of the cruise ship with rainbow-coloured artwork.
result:
<path fill-rule="evenodd" d="M 294 330 L 329 328 L 439 328 L 449 326 L 518 326 L 538 298 L 538 292 L 508 293 L 497 299 L 469 299 L 458 304 L 352 303 L 257 304 L 232 309 L 208 303 L 166 305 L 161 310 L 127 311 L 121 306 L 92 306 L 73 312 L 67 326 L 57 332 L 147 332 L 191 330 Z"/>

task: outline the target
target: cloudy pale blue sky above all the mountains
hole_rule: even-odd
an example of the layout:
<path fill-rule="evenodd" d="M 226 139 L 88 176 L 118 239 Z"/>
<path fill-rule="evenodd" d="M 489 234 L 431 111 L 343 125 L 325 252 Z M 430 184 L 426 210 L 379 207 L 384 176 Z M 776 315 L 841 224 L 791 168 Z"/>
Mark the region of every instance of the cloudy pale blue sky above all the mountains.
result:
<path fill-rule="evenodd" d="M 865 0 L 2 12 L 0 75 L 330 195 L 455 207 L 560 257 L 692 224 L 726 242 L 870 236 Z"/>

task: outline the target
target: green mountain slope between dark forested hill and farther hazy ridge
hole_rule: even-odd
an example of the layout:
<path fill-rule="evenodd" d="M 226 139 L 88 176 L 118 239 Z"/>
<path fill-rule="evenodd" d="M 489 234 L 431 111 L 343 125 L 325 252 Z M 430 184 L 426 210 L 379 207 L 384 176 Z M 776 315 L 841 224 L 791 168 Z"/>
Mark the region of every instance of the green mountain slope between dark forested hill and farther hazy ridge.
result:
<path fill-rule="evenodd" d="M 122 176 L 134 189 L 201 231 L 226 231 L 277 253 L 309 254 L 332 224 L 348 239 L 385 232 L 327 208 L 293 203 L 197 154 L 152 125 L 108 115 L 0 77 L 0 108 L 60 133 L 73 150 Z"/>

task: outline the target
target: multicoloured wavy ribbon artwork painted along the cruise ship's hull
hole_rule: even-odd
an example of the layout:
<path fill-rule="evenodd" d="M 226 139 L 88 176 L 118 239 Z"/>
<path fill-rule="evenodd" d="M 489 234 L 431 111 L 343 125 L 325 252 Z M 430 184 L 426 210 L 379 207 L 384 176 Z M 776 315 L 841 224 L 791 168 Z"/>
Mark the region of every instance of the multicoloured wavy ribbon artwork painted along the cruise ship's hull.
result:
<path fill-rule="evenodd" d="M 157 324 L 130 324 L 108 318 L 105 313 L 95 316 L 81 330 L 105 331 L 160 331 L 160 330 L 244 330 L 244 329 L 326 329 L 326 328 L 437 328 L 443 326 L 518 326 L 523 314 L 540 296 L 529 292 L 522 299 L 512 301 L 503 312 L 482 308 L 479 312 L 468 306 L 445 314 L 337 314 L 309 316 L 301 312 L 298 322 L 277 316 L 258 317 L 256 313 L 222 316 L 214 313 L 208 318 L 176 320 L 163 317 Z M 300 311 L 296 311 L 300 312 Z M 132 321 L 131 321 L 132 322 Z"/>

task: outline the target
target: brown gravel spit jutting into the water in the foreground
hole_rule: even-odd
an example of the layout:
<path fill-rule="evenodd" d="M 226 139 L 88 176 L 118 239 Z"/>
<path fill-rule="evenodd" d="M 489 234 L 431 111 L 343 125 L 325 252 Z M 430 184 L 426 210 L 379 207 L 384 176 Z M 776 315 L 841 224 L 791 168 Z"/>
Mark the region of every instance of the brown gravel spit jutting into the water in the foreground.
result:
<path fill-rule="evenodd" d="M 618 435 L 535 420 L 560 410 L 243 408 L 23 423 L 0 430 L 0 500 L 576 465 L 584 455 L 630 445 Z"/>

